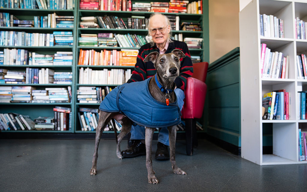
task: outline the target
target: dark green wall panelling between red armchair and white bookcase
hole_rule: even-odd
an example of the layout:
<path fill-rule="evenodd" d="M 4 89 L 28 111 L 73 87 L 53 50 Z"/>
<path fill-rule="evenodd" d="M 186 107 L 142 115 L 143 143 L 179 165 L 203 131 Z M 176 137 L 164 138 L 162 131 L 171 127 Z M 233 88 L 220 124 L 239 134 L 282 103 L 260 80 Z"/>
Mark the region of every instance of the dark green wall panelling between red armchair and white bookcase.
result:
<path fill-rule="evenodd" d="M 241 146 L 239 65 L 239 48 L 209 65 L 205 104 L 207 134 L 238 147 Z"/>

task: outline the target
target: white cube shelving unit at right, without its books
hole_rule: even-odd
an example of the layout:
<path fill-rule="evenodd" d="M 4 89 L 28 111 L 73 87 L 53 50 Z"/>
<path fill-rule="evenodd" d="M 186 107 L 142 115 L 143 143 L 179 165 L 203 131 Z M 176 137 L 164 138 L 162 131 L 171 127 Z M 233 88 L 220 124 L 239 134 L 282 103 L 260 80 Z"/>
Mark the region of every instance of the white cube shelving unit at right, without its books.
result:
<path fill-rule="evenodd" d="M 260 35 L 260 14 L 284 20 L 285 38 Z M 307 90 L 307 80 L 297 77 L 296 56 L 307 54 L 307 40 L 295 38 L 295 18 L 307 22 L 307 0 L 254 0 L 239 13 L 241 84 L 241 156 L 259 165 L 307 163 L 298 161 L 298 129 L 307 131 L 307 120 L 300 120 L 297 92 Z M 261 48 L 289 56 L 289 78 L 262 78 Z M 262 120 L 264 93 L 286 89 L 290 93 L 289 120 Z M 273 125 L 273 154 L 262 153 L 262 125 Z"/>

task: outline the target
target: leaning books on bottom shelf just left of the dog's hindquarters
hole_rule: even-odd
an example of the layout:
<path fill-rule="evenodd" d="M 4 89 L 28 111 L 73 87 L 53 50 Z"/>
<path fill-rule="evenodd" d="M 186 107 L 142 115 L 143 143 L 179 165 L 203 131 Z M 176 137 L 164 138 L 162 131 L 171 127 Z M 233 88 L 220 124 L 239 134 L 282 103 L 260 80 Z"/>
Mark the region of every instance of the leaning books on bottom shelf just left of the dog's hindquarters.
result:
<path fill-rule="evenodd" d="M 95 131 L 99 119 L 98 109 L 80 107 L 78 118 L 82 131 Z"/>

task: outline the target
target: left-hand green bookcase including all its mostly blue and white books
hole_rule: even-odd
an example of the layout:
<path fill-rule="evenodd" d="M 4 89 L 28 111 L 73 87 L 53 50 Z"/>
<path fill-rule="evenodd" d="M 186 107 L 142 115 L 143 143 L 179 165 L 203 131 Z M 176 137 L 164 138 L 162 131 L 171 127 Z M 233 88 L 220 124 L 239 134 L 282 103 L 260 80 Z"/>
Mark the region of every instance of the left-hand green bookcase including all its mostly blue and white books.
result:
<path fill-rule="evenodd" d="M 11 2 L 0 1 L 1 131 L 72 133 L 77 10 Z"/>

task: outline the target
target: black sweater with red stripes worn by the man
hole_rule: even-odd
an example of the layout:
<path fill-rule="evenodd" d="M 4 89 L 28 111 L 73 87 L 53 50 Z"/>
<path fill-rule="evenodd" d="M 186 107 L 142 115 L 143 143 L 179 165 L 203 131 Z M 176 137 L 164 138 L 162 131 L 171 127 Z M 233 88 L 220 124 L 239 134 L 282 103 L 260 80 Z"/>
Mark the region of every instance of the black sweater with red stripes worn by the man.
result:
<path fill-rule="evenodd" d="M 183 53 L 185 53 L 185 57 L 180 59 L 180 76 L 175 79 L 177 88 L 185 90 L 187 78 L 193 74 L 193 65 L 190 52 L 188 50 L 187 44 L 182 41 L 173 40 L 173 42 L 169 43 L 169 47 L 167 48 L 165 53 L 171 53 L 173 49 L 179 49 Z M 157 51 L 158 53 L 160 52 L 156 44 L 151 47 L 150 44 L 147 43 L 139 49 L 137 61 L 134 66 L 134 71 L 132 72 L 132 76 L 127 81 L 127 83 L 142 81 L 154 76 L 157 73 L 157 70 L 154 68 L 153 63 L 151 61 L 148 61 L 146 63 L 143 61 L 149 53 L 154 51 Z"/>

